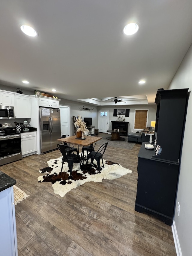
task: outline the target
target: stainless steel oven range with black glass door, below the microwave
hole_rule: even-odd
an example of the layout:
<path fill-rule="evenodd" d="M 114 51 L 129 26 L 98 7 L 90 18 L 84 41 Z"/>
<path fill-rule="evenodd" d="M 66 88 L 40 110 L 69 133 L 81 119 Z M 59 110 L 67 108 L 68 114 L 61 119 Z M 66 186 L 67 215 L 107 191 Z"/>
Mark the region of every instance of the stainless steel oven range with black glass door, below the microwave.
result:
<path fill-rule="evenodd" d="M 21 135 L 11 123 L 0 123 L 0 165 L 22 159 Z"/>

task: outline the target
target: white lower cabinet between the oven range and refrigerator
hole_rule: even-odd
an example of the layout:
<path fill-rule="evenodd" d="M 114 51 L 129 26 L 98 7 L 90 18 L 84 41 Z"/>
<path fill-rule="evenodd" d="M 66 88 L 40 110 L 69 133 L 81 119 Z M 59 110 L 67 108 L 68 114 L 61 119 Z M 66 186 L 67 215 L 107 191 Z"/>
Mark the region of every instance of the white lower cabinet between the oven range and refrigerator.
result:
<path fill-rule="evenodd" d="M 22 157 L 32 155 L 37 151 L 36 131 L 21 133 L 21 152 Z"/>

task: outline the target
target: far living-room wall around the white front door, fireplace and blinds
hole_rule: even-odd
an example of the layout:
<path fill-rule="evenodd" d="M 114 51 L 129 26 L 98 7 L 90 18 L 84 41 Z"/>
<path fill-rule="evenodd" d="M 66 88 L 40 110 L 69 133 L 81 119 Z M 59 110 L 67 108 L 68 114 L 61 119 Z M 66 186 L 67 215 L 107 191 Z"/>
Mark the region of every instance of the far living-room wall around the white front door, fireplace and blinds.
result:
<path fill-rule="evenodd" d="M 117 105 L 117 104 L 116 104 Z M 116 121 L 117 117 L 113 116 L 113 110 L 114 109 L 130 109 L 129 111 L 129 117 L 123 116 L 123 118 L 125 118 L 125 122 L 129 122 L 128 124 L 128 133 L 129 132 L 136 132 L 137 130 L 133 130 L 134 128 L 134 118 L 135 118 L 135 109 L 147 109 L 149 110 L 149 116 L 148 116 L 148 125 L 147 126 L 151 126 L 151 121 L 154 121 L 156 118 L 156 110 L 157 110 L 157 106 L 155 105 L 132 105 L 132 106 L 119 106 L 117 107 L 115 104 L 114 106 L 110 106 L 110 107 L 98 107 L 98 110 L 109 110 L 109 120 L 110 121 Z M 112 123 L 109 122 L 109 130 L 112 129 Z"/>

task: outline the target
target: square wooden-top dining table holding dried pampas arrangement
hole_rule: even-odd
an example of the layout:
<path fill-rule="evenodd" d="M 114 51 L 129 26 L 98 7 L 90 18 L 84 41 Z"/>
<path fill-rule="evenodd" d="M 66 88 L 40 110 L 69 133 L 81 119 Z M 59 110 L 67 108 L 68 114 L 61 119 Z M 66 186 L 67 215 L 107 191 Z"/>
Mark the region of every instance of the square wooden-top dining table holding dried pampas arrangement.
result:
<path fill-rule="evenodd" d="M 102 137 L 90 136 L 90 135 L 89 136 L 84 136 L 84 138 L 85 138 L 84 140 L 83 139 L 77 139 L 76 135 L 73 135 L 73 136 L 70 136 L 70 137 L 58 139 L 57 141 L 78 145 L 78 154 L 79 154 L 79 146 L 86 147 L 86 146 L 89 146 L 89 145 L 97 142 L 98 140 L 102 139 Z M 84 166 L 83 161 L 84 161 L 84 159 L 82 160 L 82 165 Z"/>

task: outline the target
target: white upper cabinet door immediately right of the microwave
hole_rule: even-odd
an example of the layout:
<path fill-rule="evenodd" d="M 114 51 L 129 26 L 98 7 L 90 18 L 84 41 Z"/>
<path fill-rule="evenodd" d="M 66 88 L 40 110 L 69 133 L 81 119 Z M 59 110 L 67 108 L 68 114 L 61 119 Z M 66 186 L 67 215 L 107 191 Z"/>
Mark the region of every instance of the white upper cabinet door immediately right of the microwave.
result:
<path fill-rule="evenodd" d="M 31 118 L 30 98 L 27 95 L 15 95 L 15 118 Z"/>

